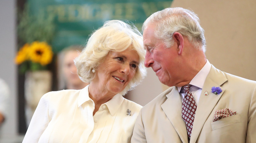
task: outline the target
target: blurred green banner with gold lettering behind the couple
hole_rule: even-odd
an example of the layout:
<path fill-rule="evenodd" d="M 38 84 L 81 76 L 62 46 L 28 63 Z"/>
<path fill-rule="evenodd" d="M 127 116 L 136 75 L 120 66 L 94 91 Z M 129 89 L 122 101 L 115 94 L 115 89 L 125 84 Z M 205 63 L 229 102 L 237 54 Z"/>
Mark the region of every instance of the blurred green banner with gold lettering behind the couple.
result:
<path fill-rule="evenodd" d="M 28 0 L 32 15 L 54 15 L 53 51 L 85 45 L 88 35 L 107 20 L 128 20 L 141 30 L 152 13 L 170 7 L 172 0 Z"/>

